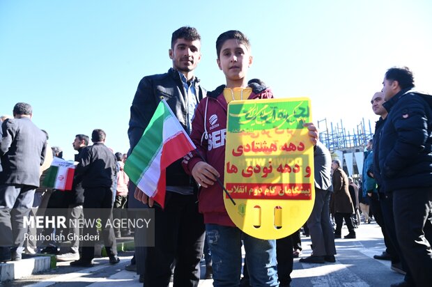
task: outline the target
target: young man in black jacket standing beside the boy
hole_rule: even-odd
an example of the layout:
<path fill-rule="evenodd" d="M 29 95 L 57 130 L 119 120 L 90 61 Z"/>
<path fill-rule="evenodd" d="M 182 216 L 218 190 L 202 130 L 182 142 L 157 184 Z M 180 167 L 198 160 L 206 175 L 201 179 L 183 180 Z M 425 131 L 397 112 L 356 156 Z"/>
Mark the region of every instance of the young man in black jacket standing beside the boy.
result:
<path fill-rule="evenodd" d="M 141 79 L 130 108 L 130 152 L 141 139 L 161 97 L 167 101 L 183 128 L 191 132 L 196 105 L 206 95 L 199 86 L 199 79 L 194 76 L 201 59 L 200 48 L 198 31 L 181 27 L 171 38 L 169 57 L 173 68 L 167 73 Z M 155 209 L 155 247 L 146 249 L 145 286 L 168 286 L 174 260 L 174 286 L 198 286 L 205 228 L 203 217 L 198 212 L 196 184 L 183 170 L 181 160 L 167 169 L 163 210 L 159 205 L 153 205 L 153 199 L 140 189 L 135 189 L 134 197 Z M 137 245 L 139 242 L 135 247 Z"/>

